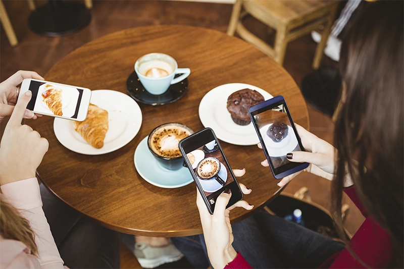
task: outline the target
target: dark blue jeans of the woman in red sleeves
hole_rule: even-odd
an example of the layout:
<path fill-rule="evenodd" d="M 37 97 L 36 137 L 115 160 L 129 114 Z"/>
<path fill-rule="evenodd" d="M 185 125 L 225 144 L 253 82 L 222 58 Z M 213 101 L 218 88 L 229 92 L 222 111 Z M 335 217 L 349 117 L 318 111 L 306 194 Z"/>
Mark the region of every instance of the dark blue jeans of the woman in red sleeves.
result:
<path fill-rule="evenodd" d="M 261 211 L 232 225 L 233 247 L 254 269 L 318 268 L 344 244 Z M 171 239 L 196 269 L 209 265 L 203 235 Z"/>

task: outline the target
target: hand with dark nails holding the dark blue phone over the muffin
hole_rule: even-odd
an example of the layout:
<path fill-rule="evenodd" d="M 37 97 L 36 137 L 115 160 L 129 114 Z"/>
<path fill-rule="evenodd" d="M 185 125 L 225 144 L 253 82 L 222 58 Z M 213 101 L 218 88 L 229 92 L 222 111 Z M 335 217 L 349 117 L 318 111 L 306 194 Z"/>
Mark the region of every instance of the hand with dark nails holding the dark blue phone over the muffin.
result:
<path fill-rule="evenodd" d="M 332 180 L 334 177 L 335 148 L 330 143 L 318 138 L 300 125 L 295 124 L 295 127 L 300 136 L 301 143 L 307 151 L 293 151 L 288 153 L 289 156 L 291 154 L 291 158 L 288 157 L 290 162 L 309 163 L 309 167 L 302 171 Z M 258 146 L 262 148 L 261 144 L 258 144 Z M 269 166 L 268 160 L 264 160 L 261 164 L 265 167 Z M 302 171 L 284 177 L 279 181 L 278 186 L 285 186 Z"/>

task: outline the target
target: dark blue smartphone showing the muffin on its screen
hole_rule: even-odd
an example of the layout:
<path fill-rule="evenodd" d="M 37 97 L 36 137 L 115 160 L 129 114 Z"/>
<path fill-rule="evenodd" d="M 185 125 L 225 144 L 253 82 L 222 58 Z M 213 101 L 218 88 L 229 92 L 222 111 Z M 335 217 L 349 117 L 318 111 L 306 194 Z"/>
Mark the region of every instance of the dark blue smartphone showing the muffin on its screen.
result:
<path fill-rule="evenodd" d="M 252 105 L 248 112 L 276 179 L 309 166 L 308 163 L 292 163 L 286 158 L 287 153 L 305 151 L 305 148 L 301 144 L 283 96 Z"/>

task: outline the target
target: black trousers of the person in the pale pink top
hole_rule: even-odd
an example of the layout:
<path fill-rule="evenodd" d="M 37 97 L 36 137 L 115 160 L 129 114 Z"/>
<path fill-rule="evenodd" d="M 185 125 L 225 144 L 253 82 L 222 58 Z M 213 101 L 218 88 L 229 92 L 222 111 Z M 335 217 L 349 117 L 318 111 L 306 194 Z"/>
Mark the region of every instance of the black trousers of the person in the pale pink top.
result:
<path fill-rule="evenodd" d="M 81 218 L 40 185 L 43 211 L 58 246 L 70 269 L 119 269 L 120 238 L 117 232 Z"/>

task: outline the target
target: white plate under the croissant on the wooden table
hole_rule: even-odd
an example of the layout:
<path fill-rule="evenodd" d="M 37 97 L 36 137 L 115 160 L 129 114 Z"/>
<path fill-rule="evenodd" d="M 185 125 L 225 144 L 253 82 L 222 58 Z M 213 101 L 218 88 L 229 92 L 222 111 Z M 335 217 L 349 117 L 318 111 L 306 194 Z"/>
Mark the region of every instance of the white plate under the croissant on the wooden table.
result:
<path fill-rule="evenodd" d="M 92 104 L 108 111 L 108 132 L 102 148 L 94 148 L 74 130 L 71 120 L 55 118 L 56 138 L 66 148 L 81 154 L 99 155 L 117 150 L 129 143 L 142 124 L 139 105 L 128 95 L 113 90 L 91 91 Z"/>

